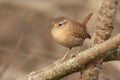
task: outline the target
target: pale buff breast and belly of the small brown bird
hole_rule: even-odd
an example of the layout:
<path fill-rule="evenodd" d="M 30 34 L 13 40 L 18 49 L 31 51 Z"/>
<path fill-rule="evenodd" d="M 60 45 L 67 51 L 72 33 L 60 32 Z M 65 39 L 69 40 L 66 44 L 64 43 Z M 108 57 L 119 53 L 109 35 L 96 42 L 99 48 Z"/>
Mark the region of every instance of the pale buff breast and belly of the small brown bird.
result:
<path fill-rule="evenodd" d="M 56 42 L 68 48 L 81 46 L 83 44 L 85 40 L 84 38 L 76 38 L 75 36 L 71 34 L 66 34 L 64 32 L 59 31 L 58 33 L 57 30 L 52 31 L 52 36 L 56 40 Z"/>

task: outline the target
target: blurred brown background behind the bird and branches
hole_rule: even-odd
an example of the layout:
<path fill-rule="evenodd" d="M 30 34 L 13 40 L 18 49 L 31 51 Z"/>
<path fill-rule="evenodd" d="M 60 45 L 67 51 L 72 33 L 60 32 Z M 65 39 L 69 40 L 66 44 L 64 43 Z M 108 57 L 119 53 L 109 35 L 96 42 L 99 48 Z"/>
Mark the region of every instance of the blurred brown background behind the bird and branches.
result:
<path fill-rule="evenodd" d="M 87 28 L 92 35 L 102 0 L 0 0 L 0 80 L 15 80 L 62 57 L 66 48 L 50 35 L 51 20 L 77 21 L 93 12 Z M 120 7 L 120 6 L 119 6 Z M 112 36 L 120 32 L 120 8 Z M 86 49 L 86 40 L 81 50 Z M 74 50 L 74 49 L 73 49 Z M 79 80 L 79 73 L 63 80 Z M 99 80 L 120 80 L 120 62 L 103 64 Z"/>

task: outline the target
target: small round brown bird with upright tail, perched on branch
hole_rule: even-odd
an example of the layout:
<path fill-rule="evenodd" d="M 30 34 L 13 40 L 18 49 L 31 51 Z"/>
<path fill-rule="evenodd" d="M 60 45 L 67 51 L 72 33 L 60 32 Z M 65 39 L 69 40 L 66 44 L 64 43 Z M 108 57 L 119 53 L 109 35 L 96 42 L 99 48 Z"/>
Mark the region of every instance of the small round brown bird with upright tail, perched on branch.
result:
<path fill-rule="evenodd" d="M 59 44 L 71 49 L 81 46 L 86 38 L 91 38 L 86 29 L 86 24 L 91 18 L 90 13 L 82 23 L 74 21 L 68 17 L 58 17 L 52 21 L 51 34 Z M 70 50 L 69 50 L 70 51 Z M 64 55 L 66 58 L 68 52 Z"/>

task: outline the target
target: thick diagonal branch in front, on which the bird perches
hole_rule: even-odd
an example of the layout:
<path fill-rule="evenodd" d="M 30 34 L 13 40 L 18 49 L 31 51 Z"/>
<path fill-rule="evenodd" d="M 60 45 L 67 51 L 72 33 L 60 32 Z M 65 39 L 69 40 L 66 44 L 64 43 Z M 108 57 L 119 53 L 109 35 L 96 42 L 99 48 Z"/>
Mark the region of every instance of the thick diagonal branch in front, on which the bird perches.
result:
<path fill-rule="evenodd" d="M 109 45 L 111 44 L 111 45 Z M 108 46 L 109 45 L 109 46 Z M 104 43 L 97 44 L 83 52 L 80 52 L 76 57 L 71 58 L 59 65 L 53 66 L 43 72 L 35 71 L 29 75 L 17 80 L 59 80 L 73 72 L 78 72 L 85 65 L 97 59 L 98 56 L 105 54 L 120 45 L 120 34 L 111 38 Z"/>

